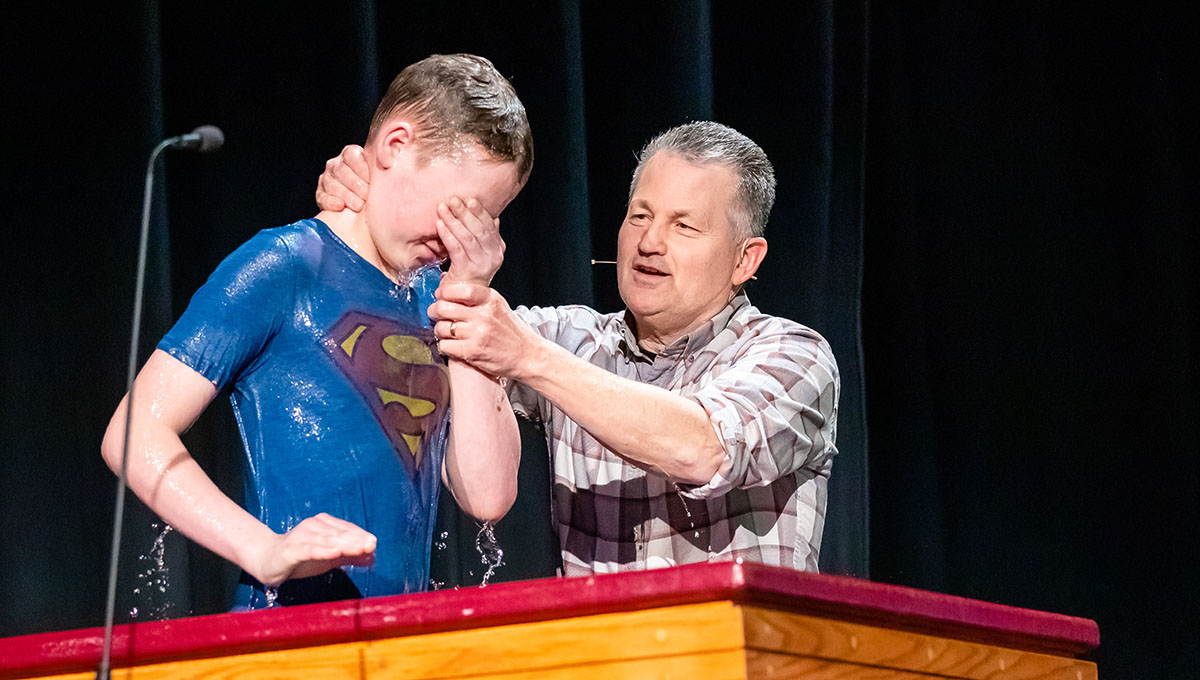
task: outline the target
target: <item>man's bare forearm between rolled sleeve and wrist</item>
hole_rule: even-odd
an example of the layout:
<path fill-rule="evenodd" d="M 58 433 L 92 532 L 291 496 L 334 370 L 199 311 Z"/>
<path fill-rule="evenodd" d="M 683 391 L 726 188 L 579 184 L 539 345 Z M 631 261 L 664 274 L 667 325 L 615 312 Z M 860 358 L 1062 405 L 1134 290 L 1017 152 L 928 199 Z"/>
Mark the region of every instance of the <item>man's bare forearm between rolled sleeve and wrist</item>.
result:
<path fill-rule="evenodd" d="M 674 481 L 706 483 L 725 451 L 708 414 L 662 387 L 622 378 L 541 339 L 518 379 L 604 446 Z"/>

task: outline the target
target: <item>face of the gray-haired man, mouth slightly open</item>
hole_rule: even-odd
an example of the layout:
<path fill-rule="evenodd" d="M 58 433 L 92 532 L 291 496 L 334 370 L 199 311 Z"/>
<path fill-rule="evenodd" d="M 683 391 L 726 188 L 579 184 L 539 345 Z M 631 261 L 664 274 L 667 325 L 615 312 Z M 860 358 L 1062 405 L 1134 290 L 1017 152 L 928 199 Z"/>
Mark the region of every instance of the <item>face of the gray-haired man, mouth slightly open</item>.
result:
<path fill-rule="evenodd" d="M 665 151 L 646 163 L 617 236 L 617 285 L 638 339 L 678 337 L 728 302 L 739 255 L 734 187 L 725 166 Z"/>

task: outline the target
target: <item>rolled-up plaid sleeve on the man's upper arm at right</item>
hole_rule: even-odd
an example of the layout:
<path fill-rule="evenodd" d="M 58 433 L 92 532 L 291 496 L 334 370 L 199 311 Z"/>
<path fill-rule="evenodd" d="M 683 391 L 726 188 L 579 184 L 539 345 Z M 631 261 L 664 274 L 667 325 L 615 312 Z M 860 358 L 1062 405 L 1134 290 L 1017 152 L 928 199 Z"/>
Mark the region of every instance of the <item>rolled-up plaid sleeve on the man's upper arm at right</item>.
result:
<path fill-rule="evenodd" d="M 840 383 L 821 336 L 803 326 L 764 332 L 719 365 L 685 396 L 708 414 L 725 458 L 708 483 L 680 485 L 686 495 L 766 486 L 800 468 L 821 468 L 836 453 Z"/>

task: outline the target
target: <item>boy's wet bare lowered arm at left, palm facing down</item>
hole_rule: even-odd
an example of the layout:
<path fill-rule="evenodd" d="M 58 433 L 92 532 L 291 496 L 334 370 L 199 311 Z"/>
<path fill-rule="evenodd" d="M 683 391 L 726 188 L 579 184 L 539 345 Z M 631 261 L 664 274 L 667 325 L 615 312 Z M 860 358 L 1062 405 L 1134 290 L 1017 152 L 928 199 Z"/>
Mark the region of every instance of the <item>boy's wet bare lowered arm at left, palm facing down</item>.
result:
<path fill-rule="evenodd" d="M 318 514 L 281 536 L 212 483 L 180 434 L 216 393 L 208 379 L 162 350 L 146 361 L 133 387 L 126 475 L 138 498 L 180 532 L 266 585 L 370 561 L 376 538 L 354 524 Z M 126 395 L 101 445 L 114 471 L 121 467 L 128 404 Z"/>

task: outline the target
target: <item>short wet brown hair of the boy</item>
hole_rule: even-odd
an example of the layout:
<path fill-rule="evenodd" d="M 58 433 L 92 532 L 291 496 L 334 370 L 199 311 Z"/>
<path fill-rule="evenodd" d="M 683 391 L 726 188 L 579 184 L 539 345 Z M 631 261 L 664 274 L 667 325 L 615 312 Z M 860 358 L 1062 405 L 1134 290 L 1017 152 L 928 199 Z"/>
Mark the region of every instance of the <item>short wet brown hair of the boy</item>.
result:
<path fill-rule="evenodd" d="M 524 104 L 482 56 L 434 54 L 401 71 L 371 119 L 367 140 L 400 112 L 416 127 L 422 156 L 449 154 L 466 138 L 497 161 L 515 163 L 521 183 L 533 169 Z"/>

